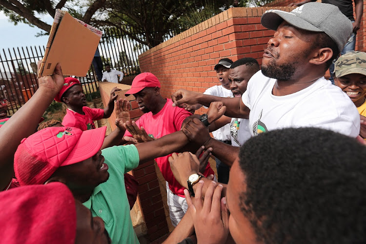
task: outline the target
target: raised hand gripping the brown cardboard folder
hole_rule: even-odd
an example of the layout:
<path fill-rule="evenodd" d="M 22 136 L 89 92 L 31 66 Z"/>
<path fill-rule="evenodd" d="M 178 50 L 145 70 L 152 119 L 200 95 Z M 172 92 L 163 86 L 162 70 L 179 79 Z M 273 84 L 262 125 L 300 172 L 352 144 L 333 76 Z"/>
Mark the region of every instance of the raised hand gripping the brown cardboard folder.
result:
<path fill-rule="evenodd" d="M 37 63 L 38 71 L 41 68 L 41 60 Z M 56 64 L 55 71 L 53 75 L 42 76 L 38 79 L 39 89 L 47 89 L 50 90 L 51 93 L 54 93 L 55 96 L 61 90 L 64 83 L 61 64 Z"/>

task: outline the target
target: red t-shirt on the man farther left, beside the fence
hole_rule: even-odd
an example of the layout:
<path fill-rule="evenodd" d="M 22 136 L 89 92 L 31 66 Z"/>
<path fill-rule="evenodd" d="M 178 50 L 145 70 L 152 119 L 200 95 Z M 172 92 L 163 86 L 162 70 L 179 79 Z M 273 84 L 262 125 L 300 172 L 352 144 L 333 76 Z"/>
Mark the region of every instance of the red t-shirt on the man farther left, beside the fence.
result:
<path fill-rule="evenodd" d="M 67 109 L 65 117 L 63 117 L 62 125 L 67 127 L 76 127 L 84 130 L 95 129 L 93 121 L 101 120 L 104 117 L 104 110 L 101 108 L 82 107 L 84 115 L 79 114 L 71 109 Z"/>

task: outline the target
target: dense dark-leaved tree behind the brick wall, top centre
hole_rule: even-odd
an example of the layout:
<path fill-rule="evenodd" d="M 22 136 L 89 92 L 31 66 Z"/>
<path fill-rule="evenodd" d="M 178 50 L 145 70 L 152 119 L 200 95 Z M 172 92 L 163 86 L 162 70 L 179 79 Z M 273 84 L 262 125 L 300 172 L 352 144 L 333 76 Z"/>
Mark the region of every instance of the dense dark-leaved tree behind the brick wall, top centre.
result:
<path fill-rule="evenodd" d="M 227 0 L 212 2 L 224 6 Z M 184 31 L 179 18 L 191 9 L 202 9 L 204 4 L 205 0 L 107 0 L 100 9 L 103 15 L 91 22 L 118 27 L 122 35 L 151 48 L 168 39 L 171 30 Z"/>

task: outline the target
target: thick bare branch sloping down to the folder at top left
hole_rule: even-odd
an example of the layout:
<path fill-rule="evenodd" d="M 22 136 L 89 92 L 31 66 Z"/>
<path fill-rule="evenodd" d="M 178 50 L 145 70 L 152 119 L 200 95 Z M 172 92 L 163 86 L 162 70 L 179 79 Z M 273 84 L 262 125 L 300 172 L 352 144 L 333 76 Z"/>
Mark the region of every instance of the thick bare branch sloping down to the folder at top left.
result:
<path fill-rule="evenodd" d="M 25 19 L 27 19 L 31 24 L 37 26 L 38 28 L 46 31 L 46 32 L 50 32 L 51 30 L 51 25 L 39 20 L 38 18 L 36 18 L 33 13 L 31 11 L 29 11 L 26 7 L 24 7 L 19 1 L 17 0 L 0 0 L 0 4 L 17 13 L 18 15 L 20 15 L 21 17 L 24 17 Z"/>

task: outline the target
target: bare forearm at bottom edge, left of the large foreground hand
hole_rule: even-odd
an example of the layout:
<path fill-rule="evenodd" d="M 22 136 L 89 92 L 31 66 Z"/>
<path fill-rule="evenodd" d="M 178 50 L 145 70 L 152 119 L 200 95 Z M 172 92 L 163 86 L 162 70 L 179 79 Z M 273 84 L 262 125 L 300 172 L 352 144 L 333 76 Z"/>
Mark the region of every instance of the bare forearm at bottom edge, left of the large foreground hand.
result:
<path fill-rule="evenodd" d="M 190 214 L 190 210 L 184 214 L 181 222 L 175 227 L 169 237 L 163 242 L 163 244 L 177 244 L 182 242 L 185 238 L 191 236 L 194 231 L 193 220 Z"/>

